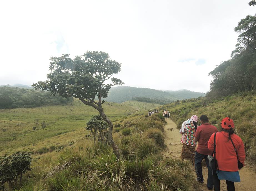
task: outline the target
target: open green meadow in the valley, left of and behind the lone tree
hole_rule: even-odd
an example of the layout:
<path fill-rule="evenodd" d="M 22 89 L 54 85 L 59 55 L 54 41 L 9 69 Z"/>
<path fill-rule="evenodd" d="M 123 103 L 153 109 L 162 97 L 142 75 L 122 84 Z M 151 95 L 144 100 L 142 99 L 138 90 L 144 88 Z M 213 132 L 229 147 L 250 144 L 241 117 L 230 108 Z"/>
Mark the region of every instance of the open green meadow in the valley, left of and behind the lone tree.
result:
<path fill-rule="evenodd" d="M 137 111 L 134 106 L 105 103 L 112 121 Z M 36 152 L 44 146 L 57 146 L 80 139 L 88 132 L 86 122 L 97 110 L 78 100 L 69 105 L 38 108 L 0 109 L 0 155 L 16 150 Z"/>

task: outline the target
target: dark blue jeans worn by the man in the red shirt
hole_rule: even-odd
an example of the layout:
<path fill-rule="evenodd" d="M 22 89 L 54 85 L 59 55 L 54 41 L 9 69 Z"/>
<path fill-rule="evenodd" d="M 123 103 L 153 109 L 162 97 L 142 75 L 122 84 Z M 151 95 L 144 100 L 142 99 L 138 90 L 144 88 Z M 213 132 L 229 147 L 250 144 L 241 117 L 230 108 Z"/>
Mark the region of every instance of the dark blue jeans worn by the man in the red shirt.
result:
<path fill-rule="evenodd" d="M 209 160 L 207 156 L 208 155 L 202 155 L 200 153 L 195 152 L 195 173 L 197 174 L 197 180 L 199 182 L 204 182 L 203 172 L 202 172 L 202 161 L 204 159 L 208 168 L 207 187 L 212 189 L 213 188 L 212 169 L 209 166 Z"/>

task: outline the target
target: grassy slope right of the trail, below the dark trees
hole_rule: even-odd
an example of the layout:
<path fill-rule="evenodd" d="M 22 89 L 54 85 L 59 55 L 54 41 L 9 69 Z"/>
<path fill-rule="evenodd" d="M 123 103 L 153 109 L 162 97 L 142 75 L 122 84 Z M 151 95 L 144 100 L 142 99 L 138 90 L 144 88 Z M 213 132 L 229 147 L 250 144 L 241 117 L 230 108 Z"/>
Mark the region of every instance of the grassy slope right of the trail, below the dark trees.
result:
<path fill-rule="evenodd" d="M 245 92 L 227 96 L 221 100 L 212 101 L 204 106 L 205 100 L 190 99 L 168 104 L 171 119 L 181 127 L 182 122 L 192 115 L 209 117 L 210 123 L 220 129 L 220 122 L 224 117 L 230 117 L 235 122 L 235 133 L 239 135 L 245 144 L 245 150 L 249 159 L 256 159 L 256 95 Z"/>

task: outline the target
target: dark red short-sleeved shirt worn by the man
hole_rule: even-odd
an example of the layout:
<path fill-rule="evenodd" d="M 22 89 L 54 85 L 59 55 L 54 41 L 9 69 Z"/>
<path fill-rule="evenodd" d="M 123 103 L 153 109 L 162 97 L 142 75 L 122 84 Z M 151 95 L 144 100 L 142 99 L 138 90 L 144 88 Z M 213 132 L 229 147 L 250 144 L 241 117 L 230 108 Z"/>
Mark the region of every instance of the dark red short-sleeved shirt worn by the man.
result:
<path fill-rule="evenodd" d="M 218 132 L 217 128 L 209 123 L 204 123 L 197 127 L 195 138 L 198 140 L 197 153 L 202 155 L 211 155 L 212 151 L 208 149 L 208 141 L 211 135 Z"/>

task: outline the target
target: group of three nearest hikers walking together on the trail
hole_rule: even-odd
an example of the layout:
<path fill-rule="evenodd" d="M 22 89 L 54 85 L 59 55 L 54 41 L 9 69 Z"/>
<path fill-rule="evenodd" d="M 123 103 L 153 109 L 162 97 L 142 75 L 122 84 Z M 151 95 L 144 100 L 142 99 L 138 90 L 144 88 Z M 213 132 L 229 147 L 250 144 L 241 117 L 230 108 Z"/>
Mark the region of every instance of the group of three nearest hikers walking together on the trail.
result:
<path fill-rule="evenodd" d="M 222 129 L 218 132 L 217 128 L 209 123 L 206 115 L 200 116 L 199 120 L 200 126 L 196 115 L 182 123 L 181 159 L 190 160 L 195 165 L 197 181 L 202 184 L 204 159 L 208 168 L 208 189 L 219 191 L 220 180 L 226 180 L 227 190 L 233 191 L 234 182 L 240 182 L 239 170 L 245 161 L 244 143 L 234 134 L 234 121 L 229 117 L 222 119 Z"/>

